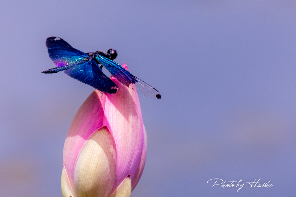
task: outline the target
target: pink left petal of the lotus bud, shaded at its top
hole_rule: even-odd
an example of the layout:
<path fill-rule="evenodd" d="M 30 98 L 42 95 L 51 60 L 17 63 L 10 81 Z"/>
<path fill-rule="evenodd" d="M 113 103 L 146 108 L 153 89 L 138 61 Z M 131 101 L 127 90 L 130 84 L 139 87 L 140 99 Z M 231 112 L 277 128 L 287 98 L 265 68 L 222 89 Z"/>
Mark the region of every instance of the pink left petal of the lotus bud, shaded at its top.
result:
<path fill-rule="evenodd" d="M 101 92 L 94 90 L 78 109 L 70 124 L 64 144 L 63 164 L 72 186 L 74 165 L 81 147 L 94 131 L 103 126 L 105 101 L 106 95 L 103 94 L 102 100 Z"/>

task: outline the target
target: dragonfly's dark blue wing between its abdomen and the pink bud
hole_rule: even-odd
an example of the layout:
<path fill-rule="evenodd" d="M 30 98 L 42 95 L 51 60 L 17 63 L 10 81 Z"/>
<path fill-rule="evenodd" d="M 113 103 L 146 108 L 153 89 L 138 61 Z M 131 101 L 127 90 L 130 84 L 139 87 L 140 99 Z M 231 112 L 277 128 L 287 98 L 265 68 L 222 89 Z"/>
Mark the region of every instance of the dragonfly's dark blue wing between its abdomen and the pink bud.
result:
<path fill-rule="evenodd" d="M 117 85 L 102 72 L 93 60 L 65 70 L 64 73 L 102 92 L 114 94 L 118 89 Z"/>

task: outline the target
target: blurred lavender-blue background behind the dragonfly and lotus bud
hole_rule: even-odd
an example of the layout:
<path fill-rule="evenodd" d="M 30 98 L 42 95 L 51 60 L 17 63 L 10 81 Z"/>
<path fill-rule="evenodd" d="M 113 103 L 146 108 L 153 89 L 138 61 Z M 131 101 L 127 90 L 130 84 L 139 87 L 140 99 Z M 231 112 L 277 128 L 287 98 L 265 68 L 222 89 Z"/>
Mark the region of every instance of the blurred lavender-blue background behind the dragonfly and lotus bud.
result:
<path fill-rule="evenodd" d="M 41 73 L 50 36 L 116 49 L 161 92 L 139 94 L 148 150 L 133 197 L 296 196 L 295 21 L 292 0 L 1 1 L 1 196 L 62 196 L 65 136 L 94 88 Z M 273 186 L 250 188 L 259 178 Z"/>

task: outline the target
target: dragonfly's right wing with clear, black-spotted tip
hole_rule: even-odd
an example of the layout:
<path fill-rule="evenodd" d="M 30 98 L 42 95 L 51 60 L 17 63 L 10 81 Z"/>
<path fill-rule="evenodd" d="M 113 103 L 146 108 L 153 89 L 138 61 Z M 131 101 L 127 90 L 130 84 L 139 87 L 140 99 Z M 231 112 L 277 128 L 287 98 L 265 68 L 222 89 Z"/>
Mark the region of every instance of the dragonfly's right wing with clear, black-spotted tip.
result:
<path fill-rule="evenodd" d="M 136 90 L 147 97 L 161 99 L 161 95 L 157 89 L 136 76 L 133 76 L 129 71 L 117 64 L 115 61 L 100 55 L 97 56 L 96 59 L 115 77 L 115 79 L 126 87 Z"/>

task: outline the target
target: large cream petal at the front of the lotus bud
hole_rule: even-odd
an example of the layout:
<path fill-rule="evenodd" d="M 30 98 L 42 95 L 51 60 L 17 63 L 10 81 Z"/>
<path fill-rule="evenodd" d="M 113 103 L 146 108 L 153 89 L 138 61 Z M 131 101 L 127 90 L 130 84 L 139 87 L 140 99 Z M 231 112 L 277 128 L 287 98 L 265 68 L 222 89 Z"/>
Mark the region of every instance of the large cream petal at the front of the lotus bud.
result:
<path fill-rule="evenodd" d="M 116 145 L 107 126 L 96 130 L 84 143 L 74 168 L 77 197 L 106 197 L 116 178 Z"/>

